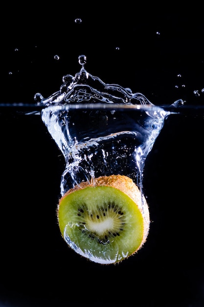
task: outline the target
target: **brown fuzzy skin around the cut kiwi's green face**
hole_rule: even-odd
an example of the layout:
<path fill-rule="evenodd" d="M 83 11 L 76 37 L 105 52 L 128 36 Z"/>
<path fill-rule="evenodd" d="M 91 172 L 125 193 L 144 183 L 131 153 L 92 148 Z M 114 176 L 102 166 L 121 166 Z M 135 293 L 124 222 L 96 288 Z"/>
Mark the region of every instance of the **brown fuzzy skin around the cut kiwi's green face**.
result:
<path fill-rule="evenodd" d="M 77 190 L 84 189 L 88 186 L 111 186 L 116 189 L 119 189 L 123 193 L 127 194 L 137 205 L 139 208 L 142 216 L 143 216 L 143 239 L 139 245 L 139 247 L 136 249 L 136 251 L 132 254 L 134 255 L 138 250 L 141 249 L 141 247 L 146 242 L 149 228 L 150 228 L 150 214 L 149 214 L 149 207 L 147 205 L 147 202 L 143 195 L 141 195 L 139 188 L 134 183 L 134 181 L 124 175 L 110 175 L 110 176 L 100 176 L 98 178 L 94 178 L 90 181 L 81 182 L 78 185 L 75 185 L 73 188 L 70 188 L 59 200 L 58 206 L 57 206 L 57 215 L 58 215 L 58 209 L 60 206 L 61 201 L 70 193 L 73 193 Z M 131 255 L 129 255 L 131 256 Z M 117 261 L 121 262 L 123 259 Z"/>

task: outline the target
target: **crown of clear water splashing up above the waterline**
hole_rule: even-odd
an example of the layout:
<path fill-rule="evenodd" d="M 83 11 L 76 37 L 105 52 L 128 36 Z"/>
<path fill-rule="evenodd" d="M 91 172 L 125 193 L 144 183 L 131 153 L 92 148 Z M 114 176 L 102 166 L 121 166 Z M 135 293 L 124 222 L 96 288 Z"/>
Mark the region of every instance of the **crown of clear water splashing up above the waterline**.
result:
<path fill-rule="evenodd" d="M 81 70 L 74 77 L 65 75 L 60 90 L 48 98 L 40 93 L 34 97 L 39 105 L 65 105 L 70 103 L 124 103 L 154 105 L 141 93 L 132 93 L 130 88 L 117 84 L 106 84 L 99 77 L 94 77 L 85 69 L 86 56 L 79 56 Z"/>

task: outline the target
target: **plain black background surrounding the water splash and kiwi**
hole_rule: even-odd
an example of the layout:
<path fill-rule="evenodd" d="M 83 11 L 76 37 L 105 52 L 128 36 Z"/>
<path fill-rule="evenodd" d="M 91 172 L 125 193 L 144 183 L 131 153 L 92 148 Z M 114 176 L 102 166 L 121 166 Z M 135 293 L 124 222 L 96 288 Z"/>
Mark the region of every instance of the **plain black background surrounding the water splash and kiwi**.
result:
<path fill-rule="evenodd" d="M 86 70 L 106 83 L 157 105 L 203 106 L 204 19 L 196 3 L 179 10 L 178 3 L 18 2 L 1 15 L 1 104 L 48 97 L 85 54 Z M 40 116 L 1 106 L 0 306 L 204 306 L 202 113 L 165 120 L 144 172 L 148 240 L 135 256 L 104 266 L 61 238 L 65 163 Z"/>

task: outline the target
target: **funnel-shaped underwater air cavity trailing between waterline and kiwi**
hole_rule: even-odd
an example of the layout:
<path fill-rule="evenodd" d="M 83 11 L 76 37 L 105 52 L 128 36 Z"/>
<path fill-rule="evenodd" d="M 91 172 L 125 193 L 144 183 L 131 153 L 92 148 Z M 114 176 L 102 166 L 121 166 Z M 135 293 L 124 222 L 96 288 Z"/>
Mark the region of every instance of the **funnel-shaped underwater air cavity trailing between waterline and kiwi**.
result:
<path fill-rule="evenodd" d="M 66 169 L 61 194 L 81 181 L 112 174 L 132 178 L 140 188 L 147 154 L 170 113 L 157 108 L 90 105 L 51 106 L 42 120 L 62 151 Z"/>

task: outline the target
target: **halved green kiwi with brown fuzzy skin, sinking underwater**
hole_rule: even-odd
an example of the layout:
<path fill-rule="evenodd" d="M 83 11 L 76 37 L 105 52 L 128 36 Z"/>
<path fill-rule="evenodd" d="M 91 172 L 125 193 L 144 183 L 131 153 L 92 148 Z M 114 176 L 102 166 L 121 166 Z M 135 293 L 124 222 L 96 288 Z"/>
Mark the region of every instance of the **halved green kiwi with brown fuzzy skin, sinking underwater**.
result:
<path fill-rule="evenodd" d="M 91 261 L 110 264 L 136 253 L 149 232 L 149 209 L 132 179 L 102 176 L 68 190 L 57 207 L 68 245 Z"/>

